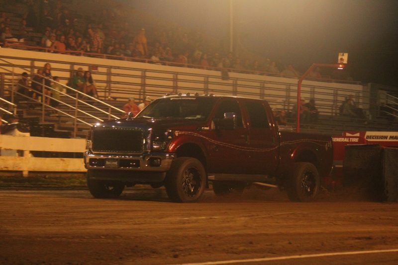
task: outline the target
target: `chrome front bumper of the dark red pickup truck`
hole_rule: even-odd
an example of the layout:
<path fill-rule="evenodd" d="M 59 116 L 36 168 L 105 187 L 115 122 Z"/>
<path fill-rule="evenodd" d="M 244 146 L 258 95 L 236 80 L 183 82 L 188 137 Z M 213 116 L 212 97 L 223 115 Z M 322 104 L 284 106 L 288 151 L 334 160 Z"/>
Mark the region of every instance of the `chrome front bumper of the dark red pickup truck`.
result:
<path fill-rule="evenodd" d="M 86 169 L 95 170 L 123 170 L 123 171 L 146 171 L 166 172 L 170 169 L 175 158 L 174 153 L 143 153 L 141 155 L 119 155 L 119 154 L 93 154 L 90 151 L 84 153 L 84 165 Z M 154 165 L 153 161 L 158 161 Z"/>

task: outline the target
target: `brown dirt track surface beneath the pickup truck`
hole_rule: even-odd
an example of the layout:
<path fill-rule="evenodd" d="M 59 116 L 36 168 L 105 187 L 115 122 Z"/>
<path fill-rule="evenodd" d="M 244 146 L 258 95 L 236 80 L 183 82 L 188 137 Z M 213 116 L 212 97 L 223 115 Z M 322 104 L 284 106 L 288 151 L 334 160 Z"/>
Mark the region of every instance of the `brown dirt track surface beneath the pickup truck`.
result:
<path fill-rule="evenodd" d="M 0 190 L 0 264 L 184 264 L 398 249 L 398 204 L 239 198 L 169 202 L 163 189 L 119 199 L 85 190 Z M 264 264 L 250 263 L 250 264 Z M 398 252 L 266 264 L 397 264 Z M 249 263 L 248 263 L 249 264 Z"/>

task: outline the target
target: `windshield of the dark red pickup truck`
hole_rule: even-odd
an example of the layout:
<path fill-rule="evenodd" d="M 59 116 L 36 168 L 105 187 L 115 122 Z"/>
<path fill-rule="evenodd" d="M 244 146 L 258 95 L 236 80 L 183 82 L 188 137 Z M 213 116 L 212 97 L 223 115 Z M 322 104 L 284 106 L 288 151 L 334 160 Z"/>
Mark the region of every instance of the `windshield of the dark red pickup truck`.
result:
<path fill-rule="evenodd" d="M 166 97 L 149 104 L 136 118 L 182 118 L 205 120 L 217 98 L 214 97 Z"/>

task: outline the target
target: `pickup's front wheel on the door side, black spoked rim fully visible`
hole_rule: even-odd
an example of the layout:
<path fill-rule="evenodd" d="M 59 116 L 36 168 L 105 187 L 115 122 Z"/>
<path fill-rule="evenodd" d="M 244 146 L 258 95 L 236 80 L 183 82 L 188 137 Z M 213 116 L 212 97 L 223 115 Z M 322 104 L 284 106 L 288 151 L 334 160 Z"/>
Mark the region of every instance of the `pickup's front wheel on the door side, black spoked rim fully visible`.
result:
<path fill-rule="evenodd" d="M 180 157 L 173 161 L 166 176 L 166 192 L 175 202 L 199 200 L 206 185 L 206 172 L 198 159 Z"/>

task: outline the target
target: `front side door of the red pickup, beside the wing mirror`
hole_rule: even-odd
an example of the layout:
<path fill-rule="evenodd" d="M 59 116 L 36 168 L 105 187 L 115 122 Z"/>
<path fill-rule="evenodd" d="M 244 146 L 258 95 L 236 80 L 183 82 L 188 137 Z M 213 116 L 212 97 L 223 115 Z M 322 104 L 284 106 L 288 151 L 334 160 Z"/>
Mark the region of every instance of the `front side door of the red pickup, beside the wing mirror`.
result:
<path fill-rule="evenodd" d="M 245 173 L 247 155 L 247 128 L 244 127 L 242 112 L 235 98 L 221 101 L 212 120 L 222 119 L 224 113 L 236 114 L 236 127 L 233 130 L 212 128 L 209 134 L 209 172 Z"/>

